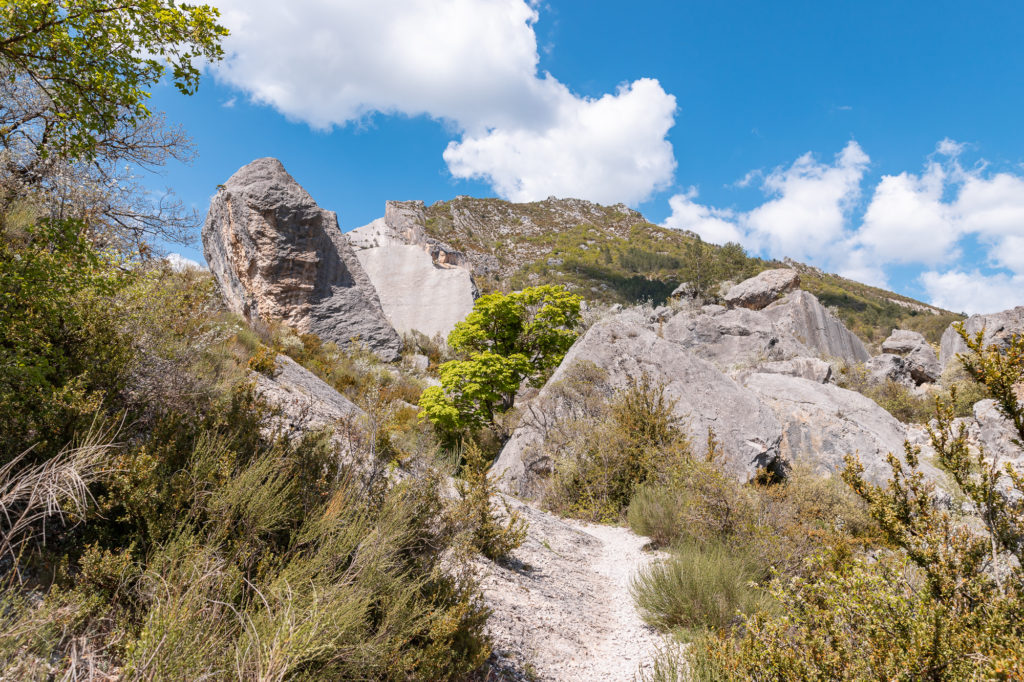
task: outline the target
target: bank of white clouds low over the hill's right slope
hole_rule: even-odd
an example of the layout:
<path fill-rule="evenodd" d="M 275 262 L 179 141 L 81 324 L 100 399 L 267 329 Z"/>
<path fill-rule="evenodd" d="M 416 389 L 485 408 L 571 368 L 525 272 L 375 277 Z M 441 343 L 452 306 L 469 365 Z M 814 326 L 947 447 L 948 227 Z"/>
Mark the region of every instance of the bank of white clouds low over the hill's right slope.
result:
<path fill-rule="evenodd" d="M 943 139 L 921 172 L 883 175 L 862 210 L 869 160 L 851 141 L 830 164 L 808 154 L 744 175 L 737 186 L 760 182 L 766 195 L 749 211 L 697 204 L 691 187 L 670 200 L 665 225 L 881 287 L 890 267 L 916 266 L 931 302 L 952 310 L 1024 304 L 1024 176 L 965 168 L 966 146 Z"/>

